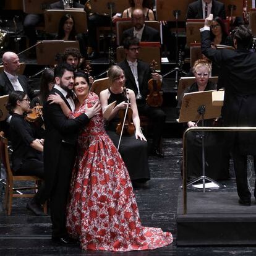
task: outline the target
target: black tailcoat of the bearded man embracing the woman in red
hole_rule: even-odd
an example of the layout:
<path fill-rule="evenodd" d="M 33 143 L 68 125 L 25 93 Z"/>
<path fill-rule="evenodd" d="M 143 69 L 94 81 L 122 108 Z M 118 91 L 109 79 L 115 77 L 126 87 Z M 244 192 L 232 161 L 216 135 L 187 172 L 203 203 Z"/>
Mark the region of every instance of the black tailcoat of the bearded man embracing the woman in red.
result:
<path fill-rule="evenodd" d="M 69 106 L 59 90 L 53 88 L 50 94 L 54 93 L 58 93 Z M 86 114 L 81 114 L 75 119 L 67 119 L 61 107 L 57 104 L 50 105 L 49 101 L 46 101 L 43 106 L 43 117 L 46 129 L 44 143 L 45 186 L 48 193 L 51 193 L 59 161 L 69 161 L 69 155 L 61 155 L 61 147 L 63 145 L 75 147 L 79 130 L 89 122 L 89 118 Z"/>

